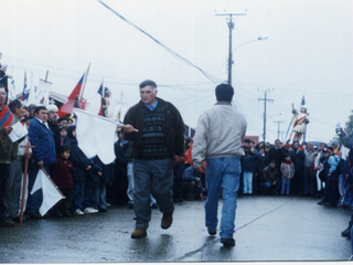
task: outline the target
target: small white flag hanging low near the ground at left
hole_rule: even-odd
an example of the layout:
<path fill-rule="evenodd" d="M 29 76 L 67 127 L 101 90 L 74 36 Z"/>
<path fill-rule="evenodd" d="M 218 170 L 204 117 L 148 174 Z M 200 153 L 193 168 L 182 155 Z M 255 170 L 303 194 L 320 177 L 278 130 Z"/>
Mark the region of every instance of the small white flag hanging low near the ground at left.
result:
<path fill-rule="evenodd" d="M 62 199 L 65 199 L 56 189 L 56 187 L 53 184 L 53 182 L 46 177 L 44 171 L 40 169 L 38 171 L 31 194 L 39 189 L 42 189 L 43 191 L 43 202 L 40 208 L 40 213 L 43 216 L 52 206 L 56 204 Z"/>

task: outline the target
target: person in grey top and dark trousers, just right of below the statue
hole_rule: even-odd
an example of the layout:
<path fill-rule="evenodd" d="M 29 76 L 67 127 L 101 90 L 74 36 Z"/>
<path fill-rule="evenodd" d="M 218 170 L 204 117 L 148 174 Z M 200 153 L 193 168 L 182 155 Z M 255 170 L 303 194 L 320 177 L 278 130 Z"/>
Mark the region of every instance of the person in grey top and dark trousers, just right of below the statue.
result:
<path fill-rule="evenodd" d="M 308 142 L 307 149 L 304 151 L 304 172 L 303 172 L 303 195 L 314 195 L 314 184 L 315 179 L 311 178 L 311 166 L 314 161 L 313 156 L 317 151 L 313 149 L 313 144 L 311 141 Z"/>

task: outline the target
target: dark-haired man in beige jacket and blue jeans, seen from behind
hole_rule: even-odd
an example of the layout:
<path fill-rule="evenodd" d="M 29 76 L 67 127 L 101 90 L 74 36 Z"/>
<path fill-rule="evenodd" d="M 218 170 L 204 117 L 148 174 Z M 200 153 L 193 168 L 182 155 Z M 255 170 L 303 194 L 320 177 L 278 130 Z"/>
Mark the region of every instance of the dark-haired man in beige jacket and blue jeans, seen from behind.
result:
<path fill-rule="evenodd" d="M 216 234 L 218 199 L 222 190 L 221 243 L 224 246 L 234 246 L 235 211 L 242 172 L 240 158 L 244 156 L 242 141 L 247 124 L 244 115 L 231 104 L 234 95 L 231 85 L 218 85 L 215 94 L 217 103 L 199 117 L 192 160 L 199 171 L 203 171 L 203 161 L 206 160 L 207 163 L 205 215 L 208 234 Z"/>

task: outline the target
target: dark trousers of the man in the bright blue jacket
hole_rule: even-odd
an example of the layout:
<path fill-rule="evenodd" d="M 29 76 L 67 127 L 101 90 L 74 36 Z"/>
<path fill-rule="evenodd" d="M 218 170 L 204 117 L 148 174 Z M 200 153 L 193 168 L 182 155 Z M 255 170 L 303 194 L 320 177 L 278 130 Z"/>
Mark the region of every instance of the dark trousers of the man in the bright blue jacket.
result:
<path fill-rule="evenodd" d="M 47 173 L 51 172 L 51 167 L 52 167 L 52 165 L 44 165 L 43 166 L 43 168 L 45 169 L 45 171 Z M 39 209 L 43 203 L 42 189 L 39 189 L 38 191 L 35 191 L 33 193 L 33 195 L 31 194 L 31 191 L 32 191 L 33 184 L 35 182 L 36 174 L 38 174 L 39 170 L 40 170 L 40 168 L 35 163 L 29 173 L 29 197 L 28 197 L 26 208 L 25 208 L 26 213 L 39 213 Z"/>

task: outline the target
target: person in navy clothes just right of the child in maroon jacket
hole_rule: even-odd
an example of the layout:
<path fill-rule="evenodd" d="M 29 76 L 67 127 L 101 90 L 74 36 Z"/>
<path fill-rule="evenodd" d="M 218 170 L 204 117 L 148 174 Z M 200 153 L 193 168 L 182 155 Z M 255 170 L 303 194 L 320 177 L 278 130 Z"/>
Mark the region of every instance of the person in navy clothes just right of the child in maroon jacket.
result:
<path fill-rule="evenodd" d="M 76 169 L 73 172 L 73 201 L 72 201 L 72 211 L 76 215 L 84 214 L 83 202 L 85 199 L 85 184 L 87 171 L 92 168 L 92 161 L 86 157 L 86 155 L 79 149 L 77 139 L 76 139 L 76 125 L 71 125 L 67 127 L 67 137 L 65 139 L 65 145 L 69 146 L 69 160 L 73 162 L 74 168 Z"/>

